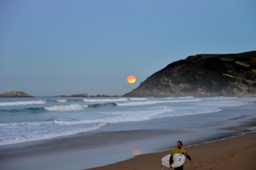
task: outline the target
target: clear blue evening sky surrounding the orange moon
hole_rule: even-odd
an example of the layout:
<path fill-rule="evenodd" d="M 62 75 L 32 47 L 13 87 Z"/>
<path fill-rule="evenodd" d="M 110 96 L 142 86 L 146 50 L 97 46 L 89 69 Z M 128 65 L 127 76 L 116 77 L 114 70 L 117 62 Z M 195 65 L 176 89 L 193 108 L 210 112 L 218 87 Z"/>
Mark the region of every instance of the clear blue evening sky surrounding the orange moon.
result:
<path fill-rule="evenodd" d="M 255 9 L 255 0 L 0 0 L 0 93 L 123 95 L 188 56 L 256 50 Z"/>

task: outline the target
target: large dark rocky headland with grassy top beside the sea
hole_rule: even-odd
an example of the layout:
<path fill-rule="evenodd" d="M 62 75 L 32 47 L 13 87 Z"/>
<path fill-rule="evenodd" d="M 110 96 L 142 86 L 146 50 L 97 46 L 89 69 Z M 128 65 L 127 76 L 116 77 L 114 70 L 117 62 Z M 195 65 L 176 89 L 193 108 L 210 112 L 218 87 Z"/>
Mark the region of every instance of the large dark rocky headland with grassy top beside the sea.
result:
<path fill-rule="evenodd" d="M 127 97 L 256 97 L 256 51 L 198 54 L 167 65 Z"/>

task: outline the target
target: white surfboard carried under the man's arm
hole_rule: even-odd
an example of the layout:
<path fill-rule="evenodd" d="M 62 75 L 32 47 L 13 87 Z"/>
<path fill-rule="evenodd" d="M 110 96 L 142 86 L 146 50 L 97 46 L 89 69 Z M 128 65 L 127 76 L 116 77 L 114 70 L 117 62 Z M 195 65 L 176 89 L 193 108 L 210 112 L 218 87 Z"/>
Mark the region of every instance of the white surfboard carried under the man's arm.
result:
<path fill-rule="evenodd" d="M 162 165 L 164 165 L 165 167 L 170 168 L 170 164 L 169 164 L 170 156 L 171 155 L 167 155 L 162 158 Z M 174 154 L 173 155 L 173 164 L 172 164 L 173 168 L 180 167 L 181 165 L 184 164 L 184 162 L 185 162 L 185 156 L 183 154 Z"/>

